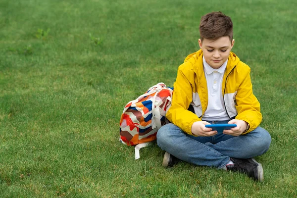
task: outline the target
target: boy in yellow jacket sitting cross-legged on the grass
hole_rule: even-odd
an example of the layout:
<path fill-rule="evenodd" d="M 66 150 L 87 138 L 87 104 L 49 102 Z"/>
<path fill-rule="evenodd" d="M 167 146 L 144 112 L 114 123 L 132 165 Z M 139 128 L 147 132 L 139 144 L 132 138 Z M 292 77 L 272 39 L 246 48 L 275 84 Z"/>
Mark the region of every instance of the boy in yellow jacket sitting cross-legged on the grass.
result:
<path fill-rule="evenodd" d="M 166 113 L 171 123 L 157 133 L 157 144 L 166 151 L 162 165 L 172 166 L 178 158 L 263 181 L 263 168 L 252 157 L 268 150 L 271 137 L 258 127 L 262 115 L 252 93 L 250 68 L 231 52 L 232 20 L 211 12 L 201 17 L 199 31 L 200 50 L 178 68 Z M 223 133 L 205 127 L 227 123 L 237 126 Z"/>

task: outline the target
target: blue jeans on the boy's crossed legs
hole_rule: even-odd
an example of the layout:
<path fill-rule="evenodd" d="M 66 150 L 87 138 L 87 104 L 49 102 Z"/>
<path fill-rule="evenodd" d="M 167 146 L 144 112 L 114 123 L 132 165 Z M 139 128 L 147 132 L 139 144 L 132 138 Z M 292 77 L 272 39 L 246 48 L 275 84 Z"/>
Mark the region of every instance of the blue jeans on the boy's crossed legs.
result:
<path fill-rule="evenodd" d="M 208 121 L 211 124 L 226 124 L 227 121 Z M 210 137 L 195 137 L 170 123 L 157 133 L 157 144 L 173 156 L 200 166 L 224 168 L 234 158 L 251 158 L 266 152 L 270 146 L 270 134 L 263 128 L 240 136 L 218 133 Z"/>

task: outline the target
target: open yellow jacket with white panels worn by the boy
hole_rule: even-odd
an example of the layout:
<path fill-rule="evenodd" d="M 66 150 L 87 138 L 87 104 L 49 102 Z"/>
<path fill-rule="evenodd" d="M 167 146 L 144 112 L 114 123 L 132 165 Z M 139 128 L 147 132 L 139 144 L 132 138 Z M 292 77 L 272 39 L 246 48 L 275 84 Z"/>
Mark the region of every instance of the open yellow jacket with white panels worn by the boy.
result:
<path fill-rule="evenodd" d="M 188 55 L 179 66 L 172 104 L 166 113 L 170 122 L 190 135 L 193 135 L 192 124 L 201 120 L 208 103 L 202 55 L 200 49 Z M 246 133 L 257 128 L 262 121 L 260 103 L 252 93 L 249 73 L 250 68 L 235 53 L 230 52 L 222 82 L 222 95 L 230 119 L 235 117 L 249 124 Z M 188 110 L 190 104 L 195 113 Z"/>

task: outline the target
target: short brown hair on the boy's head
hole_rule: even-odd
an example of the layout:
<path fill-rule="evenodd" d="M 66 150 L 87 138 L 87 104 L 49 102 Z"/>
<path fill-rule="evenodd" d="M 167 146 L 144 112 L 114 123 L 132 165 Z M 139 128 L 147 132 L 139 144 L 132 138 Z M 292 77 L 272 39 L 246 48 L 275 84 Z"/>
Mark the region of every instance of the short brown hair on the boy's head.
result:
<path fill-rule="evenodd" d="M 228 36 L 233 39 L 233 23 L 229 16 L 222 12 L 210 12 L 201 17 L 200 39 L 217 40 L 220 37 Z"/>

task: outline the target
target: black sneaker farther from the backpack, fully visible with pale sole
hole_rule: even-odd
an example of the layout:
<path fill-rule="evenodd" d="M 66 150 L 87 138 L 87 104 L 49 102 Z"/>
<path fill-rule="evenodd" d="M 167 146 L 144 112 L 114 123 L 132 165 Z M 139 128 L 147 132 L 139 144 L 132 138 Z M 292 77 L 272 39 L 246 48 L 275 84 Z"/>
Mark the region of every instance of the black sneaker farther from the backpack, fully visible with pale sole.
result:
<path fill-rule="evenodd" d="M 253 178 L 256 181 L 264 181 L 262 165 L 258 163 L 254 158 L 231 158 L 231 161 L 233 161 L 234 165 L 227 165 L 227 170 L 239 171 L 241 173 L 247 174 L 249 177 Z"/>

